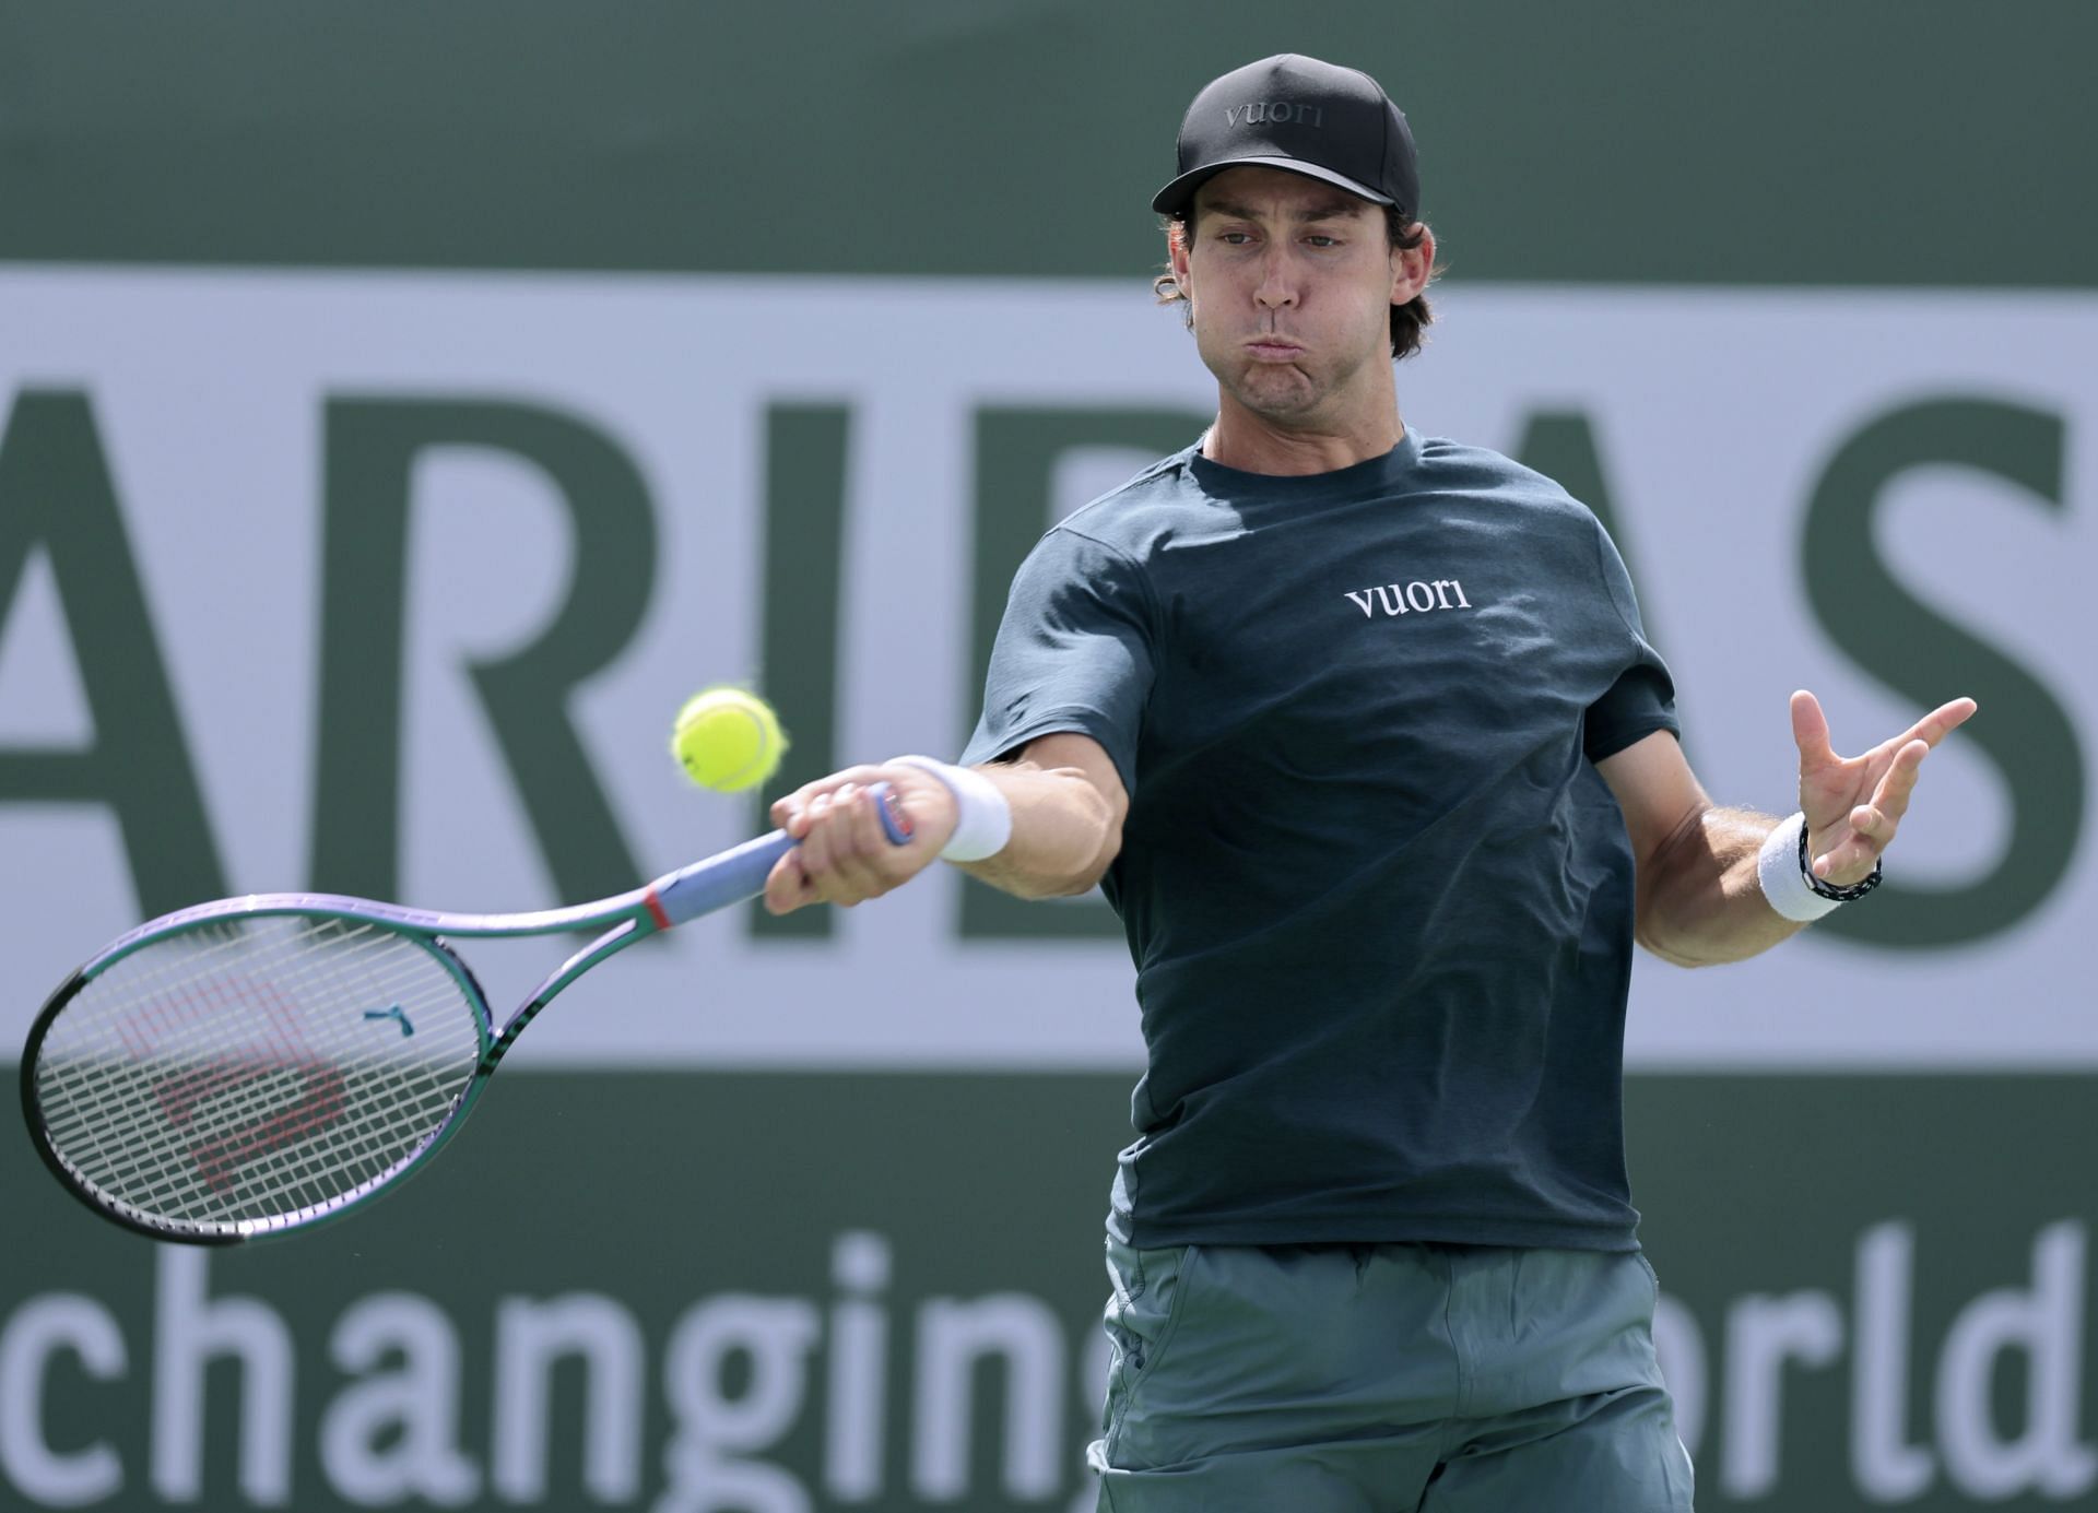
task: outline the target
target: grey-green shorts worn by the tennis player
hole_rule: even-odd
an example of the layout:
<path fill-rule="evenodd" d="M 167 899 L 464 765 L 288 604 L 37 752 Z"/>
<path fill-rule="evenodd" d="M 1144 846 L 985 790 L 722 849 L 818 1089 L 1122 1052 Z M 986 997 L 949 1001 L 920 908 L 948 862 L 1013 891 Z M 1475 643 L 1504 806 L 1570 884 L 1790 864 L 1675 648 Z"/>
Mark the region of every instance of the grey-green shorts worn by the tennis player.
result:
<path fill-rule="evenodd" d="M 1101 1513 L 1689 1513 L 1643 1255 L 1108 1240 Z"/>

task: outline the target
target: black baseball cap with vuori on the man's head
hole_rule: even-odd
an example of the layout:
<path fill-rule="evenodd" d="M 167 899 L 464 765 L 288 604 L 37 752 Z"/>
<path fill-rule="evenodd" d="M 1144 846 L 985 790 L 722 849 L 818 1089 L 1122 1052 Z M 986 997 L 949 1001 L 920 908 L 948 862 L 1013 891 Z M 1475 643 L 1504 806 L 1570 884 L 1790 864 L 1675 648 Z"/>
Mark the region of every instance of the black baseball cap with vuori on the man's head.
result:
<path fill-rule="evenodd" d="M 1408 220 L 1420 214 L 1414 134 L 1362 69 L 1278 52 L 1211 80 L 1181 122 L 1179 176 L 1152 195 L 1152 210 L 1185 214 L 1204 180 L 1240 164 L 1324 178 Z"/>

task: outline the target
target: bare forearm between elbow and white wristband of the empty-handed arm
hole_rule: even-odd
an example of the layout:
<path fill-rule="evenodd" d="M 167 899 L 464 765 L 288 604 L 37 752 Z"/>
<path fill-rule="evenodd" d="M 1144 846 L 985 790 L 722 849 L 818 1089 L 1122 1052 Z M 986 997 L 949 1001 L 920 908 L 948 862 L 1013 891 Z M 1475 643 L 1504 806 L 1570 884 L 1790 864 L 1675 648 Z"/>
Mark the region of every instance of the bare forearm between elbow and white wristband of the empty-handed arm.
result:
<path fill-rule="evenodd" d="M 1802 925 L 1762 896 L 1756 856 L 1779 825 L 1771 814 L 1706 808 L 1691 814 L 1639 875 L 1639 944 L 1680 967 L 1741 961 Z"/>

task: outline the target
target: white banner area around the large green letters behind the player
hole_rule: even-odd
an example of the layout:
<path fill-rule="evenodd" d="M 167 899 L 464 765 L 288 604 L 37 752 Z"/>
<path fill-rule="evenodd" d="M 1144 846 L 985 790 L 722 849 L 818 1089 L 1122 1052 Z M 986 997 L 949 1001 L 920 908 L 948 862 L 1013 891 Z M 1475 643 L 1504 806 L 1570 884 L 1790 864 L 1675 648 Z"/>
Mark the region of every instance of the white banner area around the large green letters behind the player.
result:
<path fill-rule="evenodd" d="M 1691 758 L 1731 804 L 1794 806 L 1785 697 L 1813 688 L 1838 751 L 1920 713 L 1806 602 L 1808 502 L 1832 460 L 1894 411 L 1997 407 L 2060 426 L 2058 497 L 2004 468 L 1890 474 L 1876 562 L 1993 648 L 2073 732 L 2077 766 L 2012 789 L 1983 743 L 1930 758 L 1888 869 L 1972 883 L 2027 825 L 2056 829 L 2092 787 L 2098 732 L 2098 298 L 1473 287 L 1437 296 L 1429 353 L 1399 369 L 1429 434 L 1517 449 L 1540 413 L 1586 422 Z M 78 395 L 109 464 L 157 657 L 235 892 L 308 886 L 321 665 L 325 407 L 501 401 L 598 430 L 646 483 L 655 590 L 631 642 L 569 716 L 644 871 L 718 850 L 749 806 L 690 789 L 667 751 L 692 688 L 759 667 L 764 415 L 850 409 L 839 747 L 955 751 L 973 718 L 969 552 L 982 407 L 1202 411 L 1177 315 L 1141 281 L 673 279 L 0 271 L 0 418 Z M 1945 405 L 1947 409 L 1928 409 Z M 1192 436 L 1190 436 L 1192 439 Z M 1141 464 L 1074 451 L 1053 508 Z M 560 609 L 571 514 L 531 464 L 434 451 L 413 472 L 401 743 L 401 902 L 556 902 L 483 701 L 466 674 L 533 642 Z M 0 508 L 10 508 L 0 499 Z M 0 523 L 4 525 L 4 523 Z M 812 541 L 810 552 L 833 550 Z M 78 751 L 97 728 L 76 657 L 92 602 L 31 548 L 0 621 L 0 753 Z M 6 585 L 0 583 L 0 594 Z M 1884 598 L 1884 596 L 1882 596 Z M 0 600 L 4 604 L 6 600 Z M 1859 617 L 1884 615 L 1865 594 Z M 151 653 L 155 648 L 141 648 Z M 1978 722 L 1991 720 L 1983 688 Z M 124 753 L 151 768 L 159 753 Z M 2033 789 L 2046 791 L 2033 791 Z M 0 1053 L 138 898 L 111 810 L 0 795 Z M 2081 946 L 2098 867 L 2081 835 L 2060 881 L 1995 934 L 1947 949 L 1808 934 L 1712 972 L 1641 959 L 1634 1066 L 2098 1066 Z M 640 881 L 640 879 L 636 879 Z M 950 873 L 852 911 L 831 940 L 755 940 L 713 917 L 585 978 L 516 1064 L 1137 1066 L 1129 957 L 1112 940 L 957 934 Z M 1047 904 L 1045 904 L 1047 907 Z M 1871 909 L 1863 902 L 1857 909 Z M 497 1011 L 548 955 L 476 946 Z M 506 959 L 512 963 L 506 967 Z"/>

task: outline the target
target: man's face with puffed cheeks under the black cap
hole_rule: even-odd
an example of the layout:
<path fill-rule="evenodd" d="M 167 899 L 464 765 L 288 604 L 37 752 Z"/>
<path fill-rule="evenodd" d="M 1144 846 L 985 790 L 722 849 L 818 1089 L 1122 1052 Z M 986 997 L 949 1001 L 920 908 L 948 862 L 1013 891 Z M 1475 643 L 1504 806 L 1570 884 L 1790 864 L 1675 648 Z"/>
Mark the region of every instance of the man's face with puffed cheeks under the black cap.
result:
<path fill-rule="evenodd" d="M 1173 277 L 1223 390 L 1297 428 L 1389 378 L 1391 306 L 1420 292 L 1427 262 L 1391 248 L 1383 206 L 1282 168 L 1229 168 L 1196 193 Z"/>

